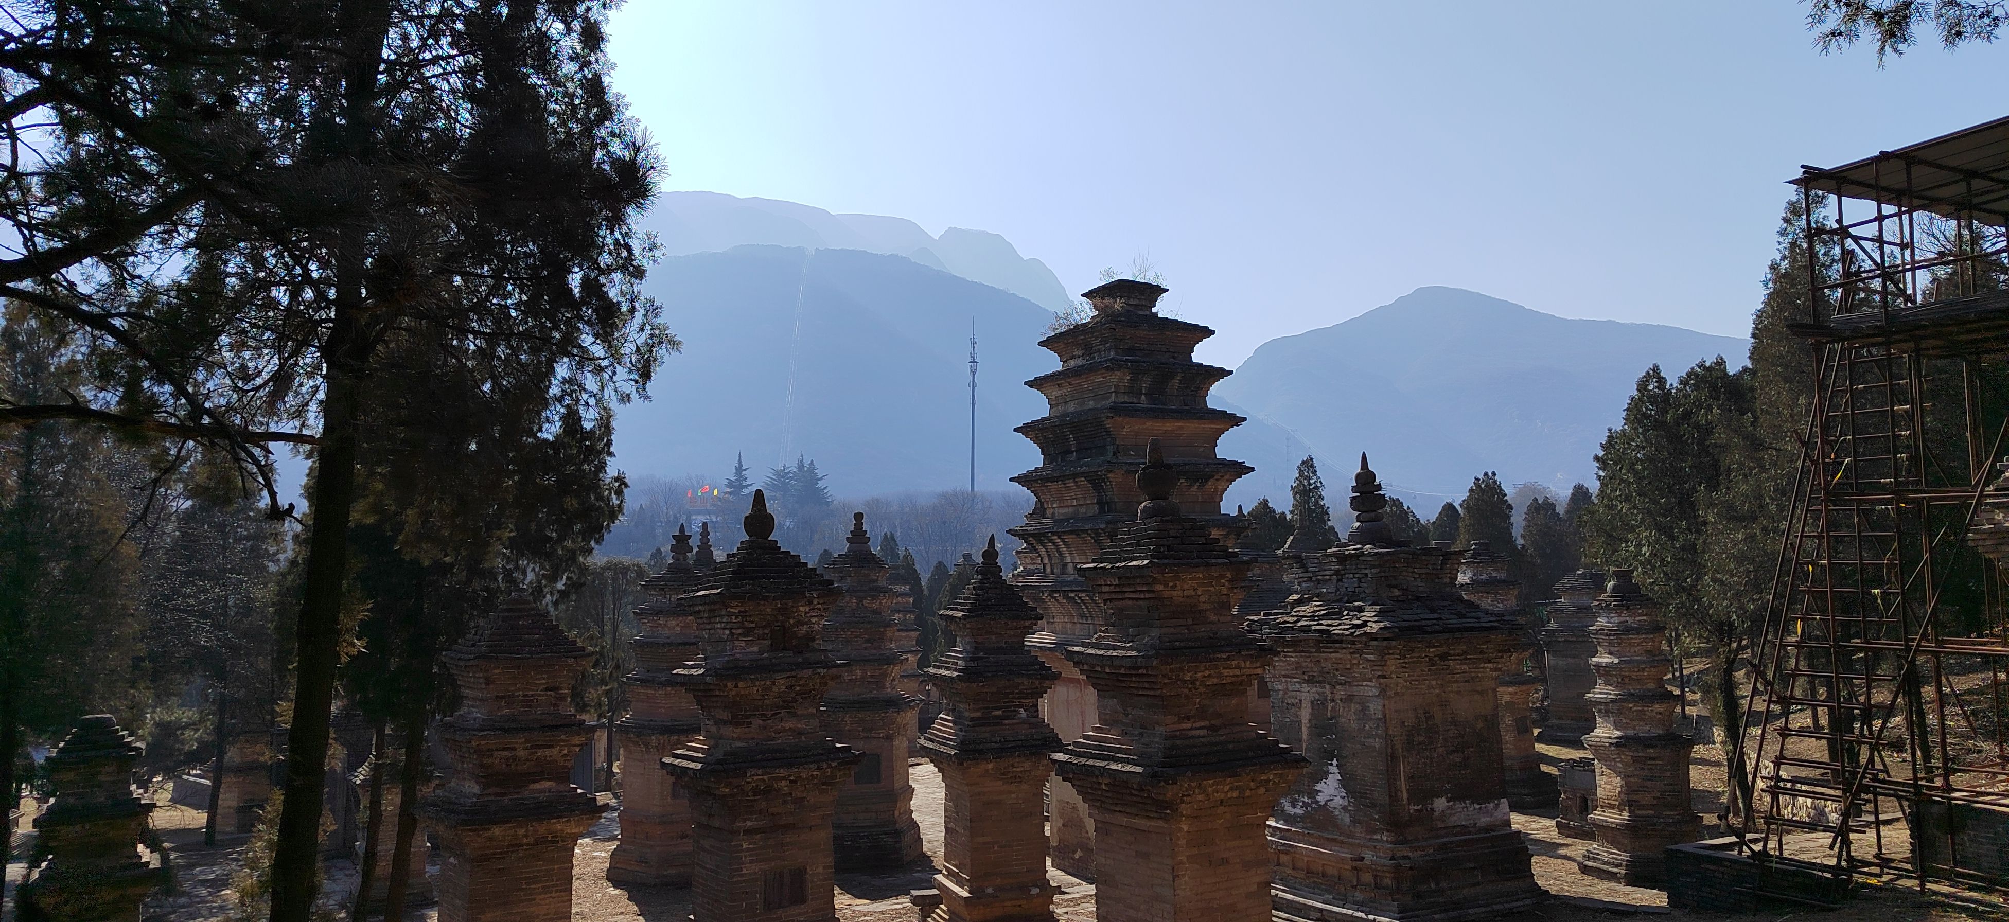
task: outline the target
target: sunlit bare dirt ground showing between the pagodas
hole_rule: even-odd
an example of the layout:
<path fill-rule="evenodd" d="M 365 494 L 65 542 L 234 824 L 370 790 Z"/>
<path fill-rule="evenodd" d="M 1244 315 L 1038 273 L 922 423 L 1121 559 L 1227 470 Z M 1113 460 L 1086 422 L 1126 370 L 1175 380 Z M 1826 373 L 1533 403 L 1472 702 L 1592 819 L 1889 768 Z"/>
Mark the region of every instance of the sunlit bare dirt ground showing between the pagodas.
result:
<path fill-rule="evenodd" d="M 1581 747 L 1541 745 L 1543 761 L 1553 765 L 1567 757 L 1585 755 Z M 926 761 L 912 765 L 914 816 L 920 820 L 920 838 L 930 856 L 942 848 L 942 779 Z M 1698 745 L 1694 783 L 1698 791 L 1722 791 L 1726 781 L 1724 761 L 1716 747 Z M 1706 822 L 1712 818 L 1704 818 Z M 1577 874 L 1575 858 L 1589 848 L 1587 842 L 1571 840 L 1555 832 L 1555 812 L 1515 814 L 1515 830 L 1527 836 L 1533 854 L 1535 880 L 1555 894 L 1555 900 L 1533 910 L 1503 916 L 1523 922 L 1589 922 L 1611 920 L 1625 914 L 1651 914 L 1667 920 L 1688 920 L 1690 912 L 1667 910 L 1667 896 L 1657 890 L 1637 890 L 1607 884 L 1597 878 Z M 145 922 L 223 922 L 231 918 L 229 876 L 235 872 L 243 836 L 229 838 L 219 848 L 203 848 L 201 816 L 185 808 L 161 808 L 155 826 L 167 846 L 179 888 L 175 894 L 157 894 L 147 902 Z M 619 840 L 615 810 L 579 840 L 573 860 L 573 918 L 579 922 L 681 922 L 689 918 L 689 890 L 681 888 L 625 888 L 607 882 L 607 858 Z M 840 876 L 838 878 L 838 918 L 842 922 L 892 922 L 916 918 L 908 902 L 910 890 L 930 888 L 932 864 L 908 868 L 888 876 Z M 1063 922 L 1089 922 L 1095 918 L 1095 886 L 1051 872 L 1051 880 L 1061 888 L 1055 900 L 1055 916 Z M 344 904 L 348 890 L 356 886 L 356 872 L 348 862 L 327 864 L 329 910 Z M 434 908 L 414 908 L 408 922 L 434 922 Z M 1959 894 L 1917 894 L 1901 886 L 1864 886 L 1858 896 L 1838 910 L 1770 910 L 1750 916 L 1694 916 L 1718 922 L 2003 922 L 2009 920 L 2009 906 L 1981 902 Z"/>

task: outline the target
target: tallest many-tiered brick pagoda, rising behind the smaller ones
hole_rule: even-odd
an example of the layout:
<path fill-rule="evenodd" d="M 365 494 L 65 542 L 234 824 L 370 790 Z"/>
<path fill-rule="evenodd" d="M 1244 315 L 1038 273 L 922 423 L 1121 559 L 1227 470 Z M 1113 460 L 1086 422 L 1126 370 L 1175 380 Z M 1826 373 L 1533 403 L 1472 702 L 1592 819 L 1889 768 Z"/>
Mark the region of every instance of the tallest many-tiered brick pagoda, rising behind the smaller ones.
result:
<path fill-rule="evenodd" d="M 1103 621 L 1075 566 L 1111 546 L 1143 502 L 1135 474 L 1145 442 L 1163 444 L 1175 474 L 1171 498 L 1219 540 L 1236 532 L 1219 512 L 1221 494 L 1254 470 L 1215 456 L 1221 434 L 1242 424 L 1207 406 L 1207 390 L 1230 372 L 1193 362 L 1193 345 L 1213 331 L 1159 315 L 1153 307 L 1163 293 L 1131 279 L 1083 293 L 1093 317 L 1041 339 L 1061 368 L 1027 382 L 1047 398 L 1047 416 L 1019 426 L 1041 464 L 1013 478 L 1035 502 L 1011 530 L 1025 542 L 1011 579 L 1043 617 L 1033 649 L 1061 673 L 1041 705 L 1061 739 L 1081 737 L 1097 713 L 1095 689 L 1061 657 L 1065 643 L 1093 637 Z M 1053 864 L 1093 880 L 1095 834 L 1081 797 L 1061 777 L 1049 793 Z"/>

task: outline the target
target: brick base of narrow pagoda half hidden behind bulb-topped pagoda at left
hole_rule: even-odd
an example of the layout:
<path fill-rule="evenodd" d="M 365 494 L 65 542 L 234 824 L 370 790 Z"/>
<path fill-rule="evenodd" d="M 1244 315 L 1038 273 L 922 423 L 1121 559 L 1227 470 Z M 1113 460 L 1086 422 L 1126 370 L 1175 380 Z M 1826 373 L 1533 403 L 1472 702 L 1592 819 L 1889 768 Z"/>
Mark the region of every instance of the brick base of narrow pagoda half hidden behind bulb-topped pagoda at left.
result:
<path fill-rule="evenodd" d="M 675 791 L 663 759 L 697 727 L 645 729 L 621 721 L 621 842 L 607 860 L 607 880 L 641 886 L 691 886 L 691 801 Z"/>

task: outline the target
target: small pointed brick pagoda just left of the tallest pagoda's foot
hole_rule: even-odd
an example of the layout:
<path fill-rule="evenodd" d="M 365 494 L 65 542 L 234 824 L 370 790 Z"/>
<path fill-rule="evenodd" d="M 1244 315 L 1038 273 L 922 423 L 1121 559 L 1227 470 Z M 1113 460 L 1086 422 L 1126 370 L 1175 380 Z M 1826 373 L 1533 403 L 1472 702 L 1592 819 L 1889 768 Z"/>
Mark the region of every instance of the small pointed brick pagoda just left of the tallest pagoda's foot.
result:
<path fill-rule="evenodd" d="M 1057 673 L 1025 647 L 1037 625 L 990 538 L 976 579 L 942 609 L 954 645 L 928 667 L 946 705 L 920 741 L 942 773 L 942 904 L 930 922 L 1053 918 L 1041 799 L 1061 737 L 1039 719 Z"/>

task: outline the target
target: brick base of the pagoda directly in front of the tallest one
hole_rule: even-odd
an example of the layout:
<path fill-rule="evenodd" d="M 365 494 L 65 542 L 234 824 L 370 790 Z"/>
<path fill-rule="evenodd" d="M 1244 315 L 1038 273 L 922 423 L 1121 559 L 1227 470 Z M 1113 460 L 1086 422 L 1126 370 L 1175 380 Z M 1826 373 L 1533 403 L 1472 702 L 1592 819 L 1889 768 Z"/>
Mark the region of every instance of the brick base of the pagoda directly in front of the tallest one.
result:
<path fill-rule="evenodd" d="M 1264 824 L 1302 763 L 1147 777 L 1061 761 L 1095 818 L 1097 922 L 1270 918 Z"/>

